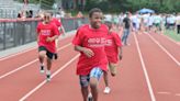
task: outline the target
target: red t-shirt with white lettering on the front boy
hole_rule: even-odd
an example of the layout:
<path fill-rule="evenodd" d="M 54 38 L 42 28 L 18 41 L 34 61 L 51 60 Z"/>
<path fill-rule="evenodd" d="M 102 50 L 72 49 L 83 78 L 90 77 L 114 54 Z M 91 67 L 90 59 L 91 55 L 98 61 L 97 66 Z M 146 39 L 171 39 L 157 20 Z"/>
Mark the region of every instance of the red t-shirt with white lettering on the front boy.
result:
<path fill-rule="evenodd" d="M 103 24 L 97 30 L 91 29 L 89 24 L 78 29 L 72 44 L 90 48 L 94 53 L 94 56 L 88 58 L 83 53 L 80 53 L 77 75 L 88 75 L 94 67 L 108 70 L 108 58 L 104 49 L 106 34 L 108 27 Z"/>

